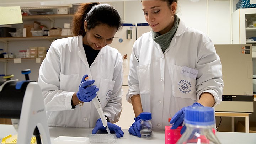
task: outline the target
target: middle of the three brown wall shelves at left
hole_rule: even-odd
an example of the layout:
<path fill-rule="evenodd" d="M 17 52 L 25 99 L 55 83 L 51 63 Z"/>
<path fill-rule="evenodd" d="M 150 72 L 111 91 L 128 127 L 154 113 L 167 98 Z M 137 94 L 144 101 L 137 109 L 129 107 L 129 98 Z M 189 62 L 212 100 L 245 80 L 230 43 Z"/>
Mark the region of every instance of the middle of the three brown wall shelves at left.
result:
<path fill-rule="evenodd" d="M 39 37 L 1 37 L 1 42 L 8 41 L 31 41 L 31 40 L 49 40 L 53 41 L 54 39 L 66 38 L 72 36 L 39 36 Z"/>

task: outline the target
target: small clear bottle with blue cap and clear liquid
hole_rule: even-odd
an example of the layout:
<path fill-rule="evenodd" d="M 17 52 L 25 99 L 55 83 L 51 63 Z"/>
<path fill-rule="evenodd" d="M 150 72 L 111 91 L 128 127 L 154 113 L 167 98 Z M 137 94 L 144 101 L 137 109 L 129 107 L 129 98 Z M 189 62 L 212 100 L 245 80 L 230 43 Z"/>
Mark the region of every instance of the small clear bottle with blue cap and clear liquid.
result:
<path fill-rule="evenodd" d="M 152 135 L 152 114 L 149 112 L 140 113 L 140 134 L 142 137 L 151 137 Z"/>

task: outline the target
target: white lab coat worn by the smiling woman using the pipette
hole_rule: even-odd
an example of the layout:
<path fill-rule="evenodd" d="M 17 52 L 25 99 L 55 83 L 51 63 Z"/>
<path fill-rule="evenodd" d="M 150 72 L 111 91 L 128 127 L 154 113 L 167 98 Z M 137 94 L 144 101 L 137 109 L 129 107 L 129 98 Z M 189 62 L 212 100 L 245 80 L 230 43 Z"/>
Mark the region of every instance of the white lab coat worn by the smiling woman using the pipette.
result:
<path fill-rule="evenodd" d="M 92 102 L 84 102 L 71 109 L 71 98 L 82 77 L 89 75 L 100 90 L 103 112 L 110 122 L 117 122 L 122 111 L 123 95 L 122 56 L 118 50 L 105 46 L 90 68 L 87 62 L 82 36 L 54 41 L 39 70 L 40 85 L 46 105 L 49 126 L 93 128 L 100 116 Z"/>

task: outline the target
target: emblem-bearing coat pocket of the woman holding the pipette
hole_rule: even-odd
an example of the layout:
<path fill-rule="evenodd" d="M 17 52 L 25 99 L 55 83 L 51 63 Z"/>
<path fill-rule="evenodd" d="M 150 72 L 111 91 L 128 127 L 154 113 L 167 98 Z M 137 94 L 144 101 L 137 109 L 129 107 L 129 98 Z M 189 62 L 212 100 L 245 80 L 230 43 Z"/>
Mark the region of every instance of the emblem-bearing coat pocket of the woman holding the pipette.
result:
<path fill-rule="evenodd" d="M 97 92 L 98 98 L 100 99 L 101 107 L 104 108 L 107 102 L 110 100 L 112 91 L 114 88 L 115 81 L 108 79 L 100 79 L 99 91 Z"/>

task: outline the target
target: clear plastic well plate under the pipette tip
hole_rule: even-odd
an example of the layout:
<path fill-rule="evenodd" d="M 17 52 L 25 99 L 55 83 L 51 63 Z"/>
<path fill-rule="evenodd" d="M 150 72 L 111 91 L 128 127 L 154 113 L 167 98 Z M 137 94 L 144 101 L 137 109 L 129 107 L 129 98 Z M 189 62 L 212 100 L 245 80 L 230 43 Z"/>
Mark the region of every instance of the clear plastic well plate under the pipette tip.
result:
<path fill-rule="evenodd" d="M 89 134 L 91 144 L 115 144 L 117 141 L 116 134 Z"/>

